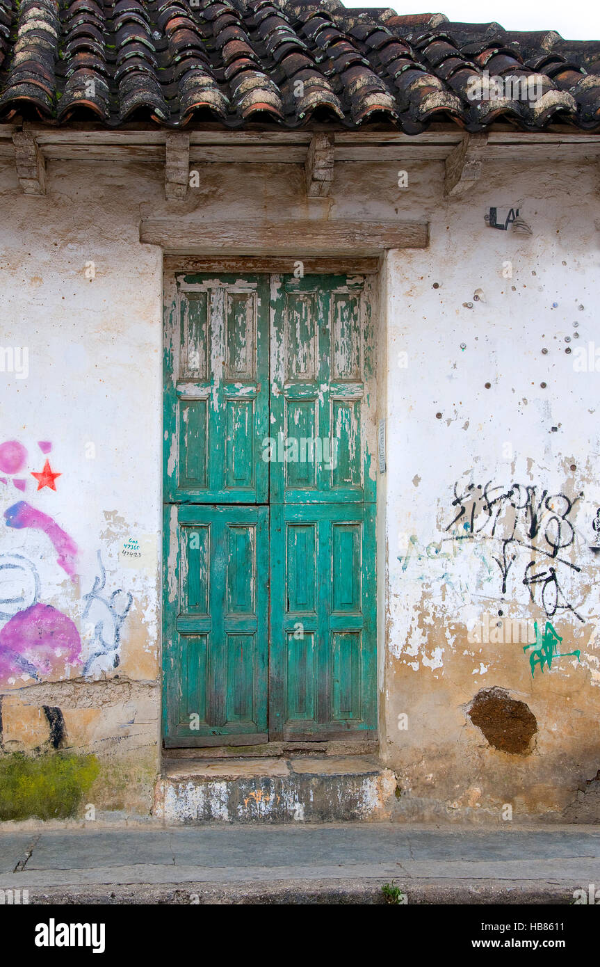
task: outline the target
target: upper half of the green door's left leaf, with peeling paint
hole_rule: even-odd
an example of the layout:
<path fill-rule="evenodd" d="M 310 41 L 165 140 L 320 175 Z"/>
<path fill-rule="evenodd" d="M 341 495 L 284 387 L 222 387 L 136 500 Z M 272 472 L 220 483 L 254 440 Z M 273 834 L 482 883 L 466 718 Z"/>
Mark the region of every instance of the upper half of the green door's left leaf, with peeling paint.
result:
<path fill-rule="evenodd" d="M 267 503 L 267 278 L 178 279 L 165 333 L 164 396 L 164 499 Z"/>

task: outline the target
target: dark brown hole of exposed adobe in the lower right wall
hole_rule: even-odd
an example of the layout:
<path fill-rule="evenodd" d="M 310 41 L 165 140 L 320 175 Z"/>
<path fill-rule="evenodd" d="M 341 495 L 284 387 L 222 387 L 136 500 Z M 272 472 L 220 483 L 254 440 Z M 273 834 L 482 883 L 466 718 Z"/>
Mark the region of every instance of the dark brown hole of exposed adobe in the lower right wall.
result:
<path fill-rule="evenodd" d="M 535 716 L 525 704 L 504 689 L 481 689 L 472 700 L 469 716 L 490 746 L 515 755 L 529 752 L 537 732 Z"/>

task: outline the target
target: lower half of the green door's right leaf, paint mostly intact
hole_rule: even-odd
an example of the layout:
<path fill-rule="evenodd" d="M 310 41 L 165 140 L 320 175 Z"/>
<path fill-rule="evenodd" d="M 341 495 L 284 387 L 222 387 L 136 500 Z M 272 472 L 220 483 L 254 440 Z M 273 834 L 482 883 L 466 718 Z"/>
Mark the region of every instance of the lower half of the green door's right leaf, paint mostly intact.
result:
<path fill-rule="evenodd" d="M 271 505 L 271 738 L 377 725 L 375 508 Z"/>

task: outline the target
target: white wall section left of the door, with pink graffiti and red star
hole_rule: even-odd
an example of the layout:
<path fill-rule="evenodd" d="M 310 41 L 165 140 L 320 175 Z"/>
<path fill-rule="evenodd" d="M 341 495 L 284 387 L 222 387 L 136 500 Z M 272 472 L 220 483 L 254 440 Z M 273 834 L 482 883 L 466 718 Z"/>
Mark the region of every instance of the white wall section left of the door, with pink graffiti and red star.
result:
<path fill-rule="evenodd" d="M 0 344 L 28 350 L 26 378 L 0 372 L 0 691 L 7 752 L 93 753 L 83 805 L 147 812 L 161 257 L 137 242 L 135 175 L 57 163 L 47 197 L 31 198 L 0 170 Z M 55 489 L 32 476 L 46 460 Z"/>

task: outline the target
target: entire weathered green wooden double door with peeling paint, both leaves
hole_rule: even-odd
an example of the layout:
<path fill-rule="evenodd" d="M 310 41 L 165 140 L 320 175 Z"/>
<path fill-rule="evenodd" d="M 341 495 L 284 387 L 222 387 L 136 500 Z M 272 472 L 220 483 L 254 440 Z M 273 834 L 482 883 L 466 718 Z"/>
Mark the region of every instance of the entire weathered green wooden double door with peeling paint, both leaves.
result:
<path fill-rule="evenodd" d="M 377 724 L 369 277 L 166 281 L 163 738 Z"/>

